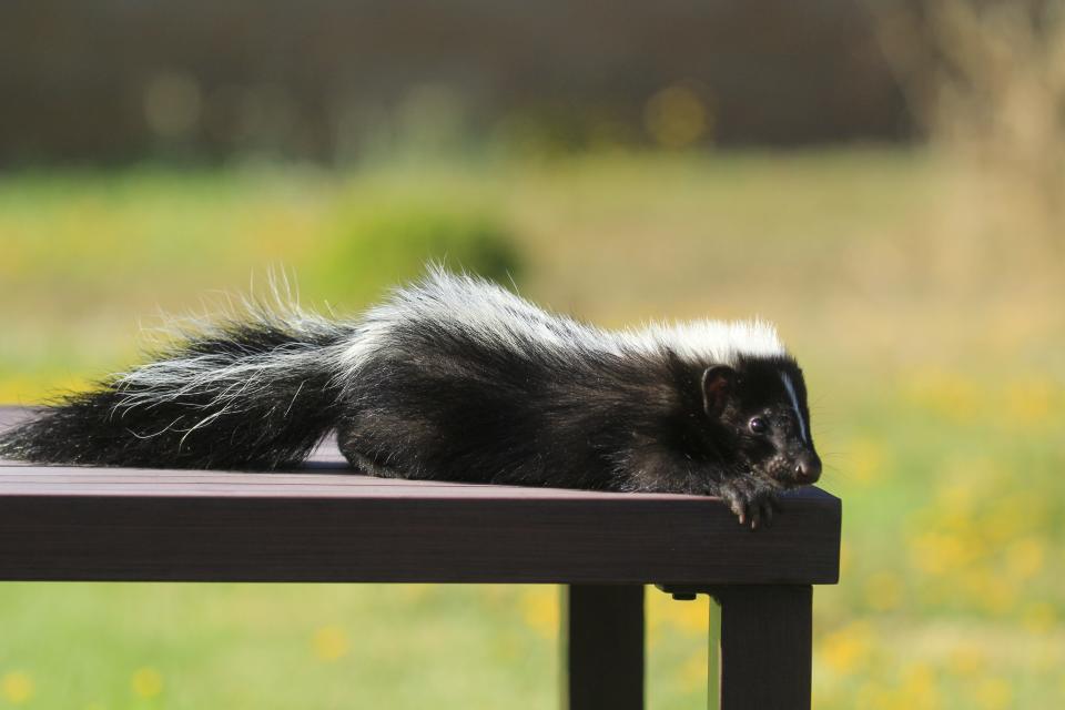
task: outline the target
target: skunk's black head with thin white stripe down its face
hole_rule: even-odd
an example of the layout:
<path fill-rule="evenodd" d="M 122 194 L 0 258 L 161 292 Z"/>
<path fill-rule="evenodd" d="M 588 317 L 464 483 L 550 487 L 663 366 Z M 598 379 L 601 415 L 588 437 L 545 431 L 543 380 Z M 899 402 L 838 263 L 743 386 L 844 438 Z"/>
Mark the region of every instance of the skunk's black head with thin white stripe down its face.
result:
<path fill-rule="evenodd" d="M 807 385 L 790 357 L 747 357 L 702 375 L 703 407 L 726 438 L 726 464 L 790 488 L 821 477 Z"/>

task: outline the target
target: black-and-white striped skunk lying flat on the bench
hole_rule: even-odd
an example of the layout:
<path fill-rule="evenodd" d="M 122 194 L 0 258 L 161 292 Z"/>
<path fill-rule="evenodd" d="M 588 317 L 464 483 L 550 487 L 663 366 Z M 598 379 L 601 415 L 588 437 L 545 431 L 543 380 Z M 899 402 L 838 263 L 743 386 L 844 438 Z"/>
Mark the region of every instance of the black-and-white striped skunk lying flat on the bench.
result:
<path fill-rule="evenodd" d="M 720 496 L 752 527 L 821 473 L 772 326 L 608 332 L 439 267 L 352 321 L 251 305 L 200 326 L 0 435 L 0 455 L 277 469 L 331 432 L 374 476 Z"/>

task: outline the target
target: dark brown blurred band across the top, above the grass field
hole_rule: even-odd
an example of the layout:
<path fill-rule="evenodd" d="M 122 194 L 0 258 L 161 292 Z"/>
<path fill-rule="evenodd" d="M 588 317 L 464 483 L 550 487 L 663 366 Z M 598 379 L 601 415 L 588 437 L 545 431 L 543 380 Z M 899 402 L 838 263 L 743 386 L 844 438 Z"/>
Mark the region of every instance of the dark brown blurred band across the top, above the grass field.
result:
<path fill-rule="evenodd" d="M 713 105 L 691 144 L 906 133 L 862 0 L 0 3 L 6 161 L 358 160 L 427 123 L 459 148 L 516 122 L 652 143 L 645 109 L 678 83 Z"/>

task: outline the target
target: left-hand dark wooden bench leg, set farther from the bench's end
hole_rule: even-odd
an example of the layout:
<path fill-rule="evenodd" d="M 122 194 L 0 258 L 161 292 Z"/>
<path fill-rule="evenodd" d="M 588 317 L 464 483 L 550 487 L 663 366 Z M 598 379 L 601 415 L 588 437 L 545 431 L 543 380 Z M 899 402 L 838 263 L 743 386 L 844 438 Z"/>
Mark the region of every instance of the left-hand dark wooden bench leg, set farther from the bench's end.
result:
<path fill-rule="evenodd" d="M 569 710 L 642 710 L 643 587 L 570 585 L 562 619 Z"/>

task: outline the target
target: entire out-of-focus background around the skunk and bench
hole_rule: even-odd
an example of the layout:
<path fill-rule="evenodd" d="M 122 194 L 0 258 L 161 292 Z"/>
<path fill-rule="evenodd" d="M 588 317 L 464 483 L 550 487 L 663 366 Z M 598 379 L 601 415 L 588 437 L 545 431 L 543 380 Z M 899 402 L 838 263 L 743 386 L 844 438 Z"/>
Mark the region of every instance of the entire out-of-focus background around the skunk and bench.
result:
<path fill-rule="evenodd" d="M 775 321 L 844 500 L 818 708 L 1065 703 L 1062 0 L 6 0 L 0 402 L 287 270 Z M 649 707 L 707 602 L 649 590 Z M 554 587 L 0 585 L 0 708 L 529 707 Z"/>

